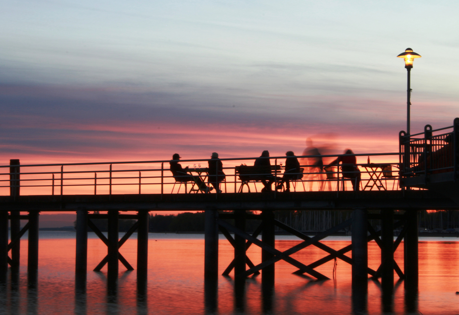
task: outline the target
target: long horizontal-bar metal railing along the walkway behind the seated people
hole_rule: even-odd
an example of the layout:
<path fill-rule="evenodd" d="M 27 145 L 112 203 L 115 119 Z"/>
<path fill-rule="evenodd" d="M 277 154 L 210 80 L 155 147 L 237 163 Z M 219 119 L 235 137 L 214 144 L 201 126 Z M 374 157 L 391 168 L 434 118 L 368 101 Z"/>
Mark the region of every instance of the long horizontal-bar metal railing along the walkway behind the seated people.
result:
<path fill-rule="evenodd" d="M 297 156 L 301 161 L 301 172 L 288 173 L 291 191 L 336 191 L 352 190 L 352 181 L 360 175 L 362 190 L 397 190 L 399 153 L 356 154 L 357 158 L 367 156 L 383 160 L 381 163 L 360 163 L 355 171 L 343 171 L 343 166 L 332 166 L 320 171 L 318 166 L 308 164 L 308 159 L 321 157 L 324 160 L 341 159 L 349 155 L 304 155 Z M 263 189 L 263 179 L 273 182 L 273 191 L 282 181 L 285 167 L 280 162 L 285 156 L 266 157 L 272 166 L 270 172 L 245 173 L 237 171 L 241 165 L 253 165 L 257 158 L 213 159 L 223 163 L 225 177 L 218 180 L 219 189 L 206 189 L 215 182 L 217 169 L 213 172 L 207 166 L 208 159 L 180 160 L 183 166 L 190 166 L 186 173 L 173 175 L 170 171 L 171 160 L 129 161 L 129 162 L 99 162 L 99 163 L 70 163 L 70 164 L 40 164 L 19 165 L 18 160 L 11 160 L 11 165 L 0 166 L 1 195 L 78 195 L 78 194 L 134 194 L 134 193 L 172 193 L 179 186 L 178 193 L 237 193 L 246 192 L 252 187 L 256 192 Z M 389 161 L 387 161 L 389 159 Z M 13 162 L 16 161 L 16 162 Z M 16 164 L 15 164 L 16 163 Z M 301 178 L 300 178 L 301 177 Z M 209 180 L 210 178 L 210 180 Z M 204 185 L 203 185 L 204 184 Z M 201 186 L 200 186 L 201 185 Z M 182 188 L 183 187 L 183 188 Z M 19 190 L 21 192 L 19 193 Z"/>

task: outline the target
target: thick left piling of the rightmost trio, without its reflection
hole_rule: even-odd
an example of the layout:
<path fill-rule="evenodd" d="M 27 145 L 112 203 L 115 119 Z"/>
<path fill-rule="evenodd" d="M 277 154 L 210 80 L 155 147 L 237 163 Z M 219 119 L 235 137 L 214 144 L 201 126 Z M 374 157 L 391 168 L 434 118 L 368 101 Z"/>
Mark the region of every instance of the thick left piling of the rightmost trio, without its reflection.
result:
<path fill-rule="evenodd" d="M 367 210 L 355 209 L 352 222 L 352 285 L 368 287 Z"/>

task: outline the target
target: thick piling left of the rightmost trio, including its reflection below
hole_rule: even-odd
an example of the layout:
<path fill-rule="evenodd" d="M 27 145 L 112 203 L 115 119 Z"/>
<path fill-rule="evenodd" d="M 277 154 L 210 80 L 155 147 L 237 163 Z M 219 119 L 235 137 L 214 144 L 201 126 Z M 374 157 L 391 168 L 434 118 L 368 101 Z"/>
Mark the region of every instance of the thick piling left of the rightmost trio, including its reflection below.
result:
<path fill-rule="evenodd" d="M 355 209 L 352 221 L 352 300 L 355 313 L 365 313 L 367 309 L 367 231 L 367 210 Z"/>

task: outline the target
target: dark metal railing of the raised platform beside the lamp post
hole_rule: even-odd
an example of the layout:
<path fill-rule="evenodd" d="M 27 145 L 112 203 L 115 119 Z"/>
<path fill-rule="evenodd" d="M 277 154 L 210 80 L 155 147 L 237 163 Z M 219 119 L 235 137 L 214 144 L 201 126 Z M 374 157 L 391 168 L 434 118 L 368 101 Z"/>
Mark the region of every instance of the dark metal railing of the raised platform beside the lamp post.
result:
<path fill-rule="evenodd" d="M 403 177 L 422 177 L 424 184 L 433 174 L 451 173 L 457 179 L 459 118 L 453 126 L 432 129 L 425 125 L 424 132 L 407 135 L 399 133 L 400 163 Z M 445 179 L 447 177 L 444 177 Z M 419 182 L 412 181 L 419 185 Z"/>

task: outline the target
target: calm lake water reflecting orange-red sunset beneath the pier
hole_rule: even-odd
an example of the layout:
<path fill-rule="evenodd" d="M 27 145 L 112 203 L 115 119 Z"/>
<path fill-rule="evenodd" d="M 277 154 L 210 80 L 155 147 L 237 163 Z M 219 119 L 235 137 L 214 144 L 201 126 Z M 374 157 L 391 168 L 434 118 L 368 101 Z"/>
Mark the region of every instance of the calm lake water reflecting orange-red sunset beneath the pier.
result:
<path fill-rule="evenodd" d="M 107 298 L 106 267 L 92 269 L 104 258 L 107 249 L 94 233 L 88 240 L 88 278 L 85 303 L 75 297 L 75 233 L 40 232 L 39 276 L 36 294 L 27 289 L 27 234 L 21 242 L 19 287 L 0 296 L 0 314 L 209 314 L 204 302 L 204 236 L 200 234 L 150 233 L 147 298 L 138 303 L 136 271 L 125 271 L 120 264 L 118 294 Z M 120 237 L 122 234 L 120 233 Z M 420 238 L 420 277 L 418 311 L 414 314 L 459 314 L 459 238 Z M 290 236 L 276 236 L 276 248 L 288 249 L 300 241 Z M 350 237 L 329 237 L 323 241 L 333 249 L 350 244 Z M 136 234 L 120 253 L 136 268 Z M 221 236 L 219 243 L 220 273 L 233 258 L 233 248 Z M 327 255 L 316 247 L 292 255 L 304 264 Z M 350 255 L 350 253 L 348 253 Z M 261 251 L 252 245 L 248 256 L 254 264 L 261 262 Z M 403 269 L 403 243 L 395 253 Z M 369 267 L 377 269 L 380 250 L 369 243 Z M 351 266 L 338 260 L 333 278 L 334 261 L 317 268 L 332 280 L 315 282 L 292 275 L 296 268 L 280 261 L 275 264 L 275 286 L 272 298 L 263 298 L 261 276 L 248 278 L 242 301 L 236 303 L 233 274 L 220 276 L 216 314 L 353 314 Z M 395 274 L 395 282 L 398 276 Z M 75 303 L 75 301 L 77 303 Z M 235 305 L 238 305 L 236 309 Z M 268 305 L 268 306 L 267 306 Z M 381 289 L 369 281 L 369 314 L 383 314 Z M 212 312 L 213 313 L 213 312 Z M 397 282 L 392 305 L 393 314 L 407 314 L 403 282 Z"/>

